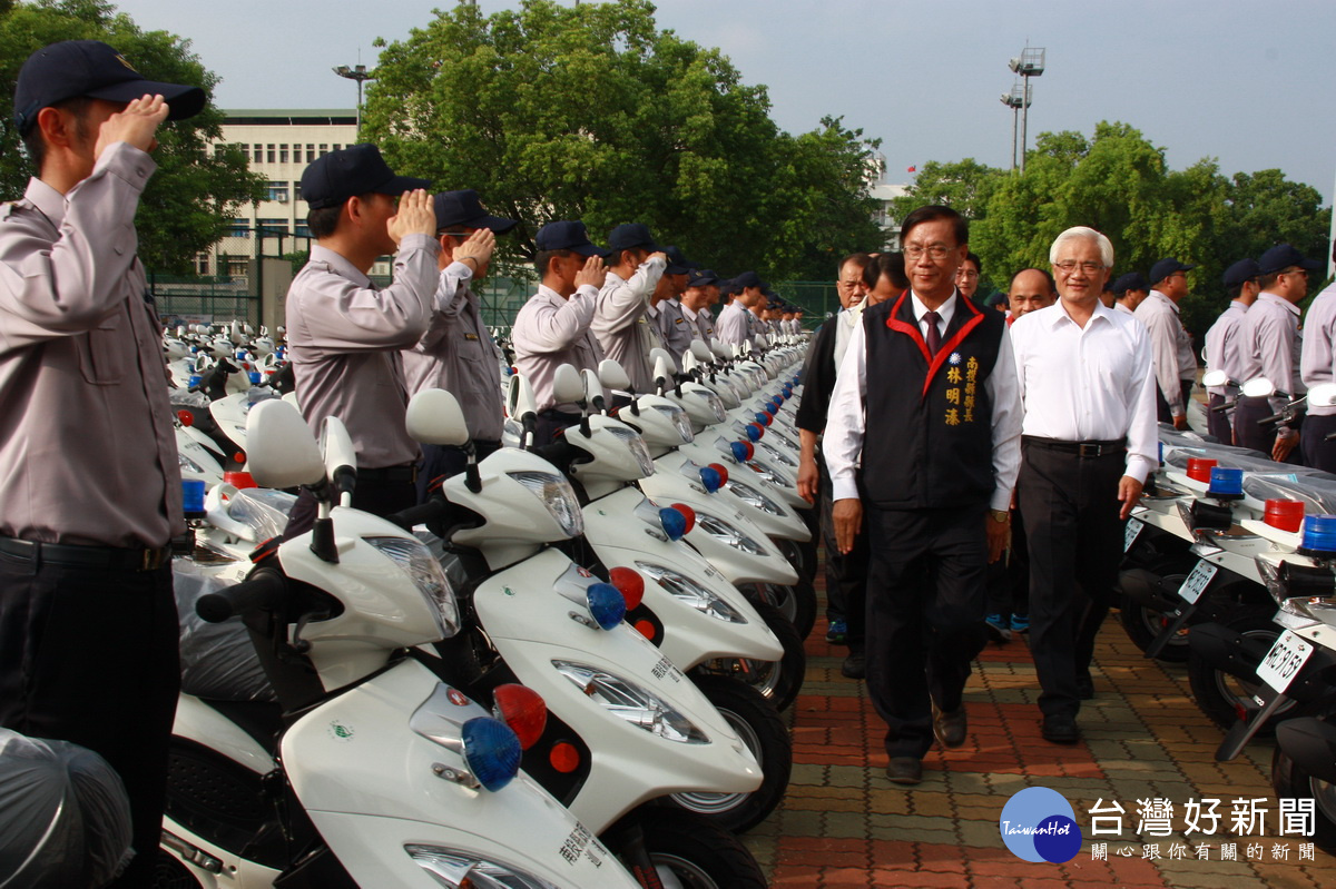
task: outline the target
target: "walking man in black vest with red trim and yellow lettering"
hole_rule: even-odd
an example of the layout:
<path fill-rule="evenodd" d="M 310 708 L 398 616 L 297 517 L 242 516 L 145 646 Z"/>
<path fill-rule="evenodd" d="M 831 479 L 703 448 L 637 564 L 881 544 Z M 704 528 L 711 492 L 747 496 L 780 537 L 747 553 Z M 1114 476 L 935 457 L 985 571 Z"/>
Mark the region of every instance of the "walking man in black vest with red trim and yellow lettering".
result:
<path fill-rule="evenodd" d="M 1006 547 L 1019 465 L 1006 322 L 955 287 L 967 236 L 950 207 L 904 218 L 910 290 L 863 312 L 826 423 L 840 551 L 852 550 L 867 505 L 867 689 L 896 784 L 922 780 L 934 735 L 965 744 L 985 573 Z"/>

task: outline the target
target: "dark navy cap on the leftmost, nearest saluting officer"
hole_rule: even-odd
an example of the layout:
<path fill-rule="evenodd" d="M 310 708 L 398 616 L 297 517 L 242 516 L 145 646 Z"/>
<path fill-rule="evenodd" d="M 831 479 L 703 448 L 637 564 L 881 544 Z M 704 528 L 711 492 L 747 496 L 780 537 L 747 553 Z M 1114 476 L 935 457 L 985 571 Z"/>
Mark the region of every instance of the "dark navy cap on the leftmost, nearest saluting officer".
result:
<path fill-rule="evenodd" d="M 57 101 L 76 96 L 131 101 L 144 95 L 167 100 L 168 120 L 194 117 L 207 100 L 199 87 L 148 80 L 100 40 L 63 40 L 37 49 L 23 63 L 13 89 L 13 121 L 24 135 L 37 112 Z"/>

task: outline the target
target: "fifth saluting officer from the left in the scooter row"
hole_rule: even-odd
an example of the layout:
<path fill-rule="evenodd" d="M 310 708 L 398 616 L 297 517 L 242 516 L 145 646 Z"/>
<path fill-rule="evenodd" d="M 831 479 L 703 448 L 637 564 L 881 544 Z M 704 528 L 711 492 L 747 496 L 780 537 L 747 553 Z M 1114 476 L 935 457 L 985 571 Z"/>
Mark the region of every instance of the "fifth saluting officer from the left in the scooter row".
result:
<path fill-rule="evenodd" d="M 648 226 L 627 223 L 608 235 L 608 278 L 591 327 L 604 354 L 621 364 L 637 392 L 653 388 L 649 350 L 657 344 L 657 331 L 651 330 L 645 311 L 667 264 Z"/>

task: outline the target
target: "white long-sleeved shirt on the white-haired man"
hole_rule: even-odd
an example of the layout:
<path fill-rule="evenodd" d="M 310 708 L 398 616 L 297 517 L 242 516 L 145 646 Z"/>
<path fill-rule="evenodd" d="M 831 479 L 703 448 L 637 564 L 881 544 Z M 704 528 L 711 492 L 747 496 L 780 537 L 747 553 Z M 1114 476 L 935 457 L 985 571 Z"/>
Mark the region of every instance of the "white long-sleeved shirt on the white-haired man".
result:
<path fill-rule="evenodd" d="M 1061 442 L 1128 439 L 1125 475 L 1145 482 L 1160 459 L 1150 335 L 1096 304 L 1082 328 L 1062 300 L 1011 324 L 1023 432 Z"/>

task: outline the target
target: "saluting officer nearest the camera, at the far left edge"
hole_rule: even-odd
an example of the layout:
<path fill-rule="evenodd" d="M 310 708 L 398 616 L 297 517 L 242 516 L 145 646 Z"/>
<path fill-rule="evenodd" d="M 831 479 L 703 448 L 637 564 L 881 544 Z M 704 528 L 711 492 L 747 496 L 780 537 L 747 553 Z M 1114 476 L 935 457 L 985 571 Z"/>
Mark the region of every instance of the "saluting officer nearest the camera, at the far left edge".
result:
<path fill-rule="evenodd" d="M 180 685 L 168 541 L 186 530 L 160 327 L 135 255 L 158 125 L 204 107 L 94 40 L 19 71 L 36 167 L 0 208 L 0 725 L 100 753 L 148 886 Z"/>

